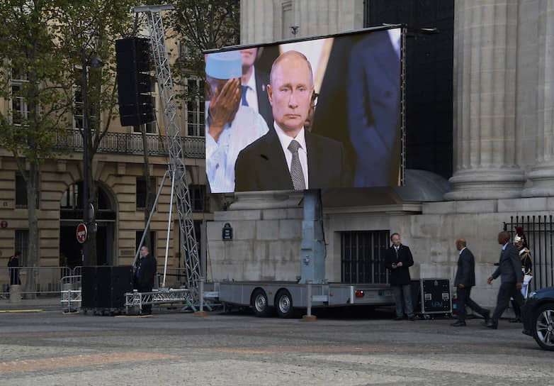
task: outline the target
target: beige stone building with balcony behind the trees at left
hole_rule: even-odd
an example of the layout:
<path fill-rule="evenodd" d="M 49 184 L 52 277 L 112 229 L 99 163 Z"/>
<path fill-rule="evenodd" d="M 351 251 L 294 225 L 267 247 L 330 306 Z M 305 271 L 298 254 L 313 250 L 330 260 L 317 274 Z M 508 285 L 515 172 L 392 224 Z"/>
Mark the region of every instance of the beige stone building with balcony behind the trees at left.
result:
<path fill-rule="evenodd" d="M 175 43 L 170 53 L 180 52 Z M 170 57 L 170 60 L 171 57 Z M 14 80 L 13 82 L 16 82 Z M 188 82 L 198 85 L 191 76 Z M 190 85 L 190 84 L 189 84 Z M 157 92 L 156 92 L 157 96 Z M 157 98 L 158 99 L 158 98 Z M 159 100 L 158 100 L 159 103 Z M 9 99 L 0 99 L 0 109 L 6 114 Z M 179 126 L 186 154 L 187 180 L 191 187 L 193 220 L 200 241 L 200 224 L 213 219 L 205 178 L 205 137 L 203 136 L 203 109 L 199 101 L 179 106 Z M 157 106 L 159 124 L 147 124 L 149 147 L 149 174 L 157 192 L 167 170 L 167 146 L 160 106 Z M 105 119 L 106 116 L 103 116 Z M 77 119 L 57 139 L 60 150 L 56 160 L 46 160 L 39 169 L 38 228 L 39 262 L 43 267 L 81 265 L 81 245 L 77 243 L 76 229 L 82 221 L 80 190 L 83 180 L 83 145 Z M 130 265 L 145 228 L 144 158 L 142 136 L 131 126 L 120 126 L 119 119 L 111 123 L 94 157 L 92 173 L 99 190 L 97 223 L 97 264 Z M 28 167 L 28 165 L 27 165 Z M 18 166 L 13 155 L 0 148 L 0 266 L 5 267 L 14 250 L 22 250 L 21 265 L 26 265 L 28 240 L 28 203 L 25 184 L 18 177 Z M 163 265 L 166 252 L 171 180 L 167 178 L 152 218 L 152 253 Z M 204 247 L 200 246 L 200 250 Z M 169 236 L 170 267 L 183 267 L 179 262 L 179 221 L 174 208 Z M 4 262 L 4 263 L 2 263 Z M 4 271 L 2 271 L 4 272 Z M 0 277 L 0 281 L 4 280 Z"/>

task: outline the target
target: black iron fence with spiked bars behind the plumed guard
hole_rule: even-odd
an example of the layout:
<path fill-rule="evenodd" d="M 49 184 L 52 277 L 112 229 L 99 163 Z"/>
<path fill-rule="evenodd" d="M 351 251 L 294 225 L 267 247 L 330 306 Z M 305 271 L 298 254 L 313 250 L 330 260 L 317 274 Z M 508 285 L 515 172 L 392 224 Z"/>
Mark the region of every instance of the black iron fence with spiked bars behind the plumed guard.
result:
<path fill-rule="evenodd" d="M 516 234 L 516 226 L 523 226 L 533 259 L 531 291 L 554 285 L 553 215 L 511 216 L 509 222 L 504 222 L 504 231 L 511 233 L 511 240 Z"/>

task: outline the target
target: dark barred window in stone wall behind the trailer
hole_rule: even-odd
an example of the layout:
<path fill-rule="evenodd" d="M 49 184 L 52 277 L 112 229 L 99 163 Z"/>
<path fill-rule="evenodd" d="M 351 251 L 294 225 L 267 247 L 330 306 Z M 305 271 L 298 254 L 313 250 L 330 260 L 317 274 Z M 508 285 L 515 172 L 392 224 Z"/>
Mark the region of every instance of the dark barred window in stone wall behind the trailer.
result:
<path fill-rule="evenodd" d="M 388 284 L 385 251 L 390 231 L 349 231 L 341 233 L 341 282 Z"/>

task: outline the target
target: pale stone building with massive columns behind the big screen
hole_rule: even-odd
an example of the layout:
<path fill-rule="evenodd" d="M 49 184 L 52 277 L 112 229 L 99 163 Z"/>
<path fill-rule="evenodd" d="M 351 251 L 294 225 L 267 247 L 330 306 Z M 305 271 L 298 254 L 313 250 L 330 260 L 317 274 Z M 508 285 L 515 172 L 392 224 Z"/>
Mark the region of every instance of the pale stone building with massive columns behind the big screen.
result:
<path fill-rule="evenodd" d="M 368 3 L 372 1 L 242 0 L 242 43 L 293 37 L 292 26 L 298 27 L 296 37 L 362 28 Z M 455 241 L 464 237 L 476 258 L 472 295 L 492 306 L 499 280 L 489 286 L 486 278 L 499 256 L 497 233 L 504 226 L 513 231 L 514 219 L 529 216 L 534 222 L 526 223 L 528 235 L 545 237 L 544 245 L 531 245 L 531 252 L 541 256 L 535 260 L 531 288 L 554 285 L 551 222 L 548 230 L 554 212 L 554 5 L 544 0 L 456 0 L 453 11 L 450 187 L 429 199 L 418 193 L 425 181 L 416 173 L 400 188 L 322 191 L 326 272 L 330 281 L 348 279 L 346 265 L 355 260 L 349 249 L 353 238 L 358 253 L 364 253 L 363 245 L 388 246 L 380 234 L 384 231 L 399 232 L 412 249 L 412 277 L 453 280 Z M 427 189 L 437 186 L 427 180 Z M 215 279 L 295 280 L 300 274 L 301 198 L 291 192 L 235 194 L 230 210 L 217 211 L 208 224 Z M 222 241 L 227 223 L 234 229 L 233 241 Z M 371 280 L 383 281 L 383 276 Z"/>

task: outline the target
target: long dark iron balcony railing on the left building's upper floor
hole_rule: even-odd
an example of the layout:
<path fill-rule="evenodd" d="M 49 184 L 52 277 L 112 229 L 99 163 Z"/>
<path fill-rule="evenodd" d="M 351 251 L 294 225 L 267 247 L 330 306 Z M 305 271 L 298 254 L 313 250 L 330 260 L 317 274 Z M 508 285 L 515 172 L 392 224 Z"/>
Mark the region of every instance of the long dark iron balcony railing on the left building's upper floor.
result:
<path fill-rule="evenodd" d="M 205 157 L 204 137 L 181 137 L 186 158 Z M 167 138 L 165 136 L 147 134 L 148 155 L 167 155 Z M 64 136 L 58 136 L 58 150 L 83 151 L 83 136 L 78 129 L 68 130 Z M 98 153 L 117 153 L 142 155 L 141 133 L 106 133 L 100 141 Z"/>

